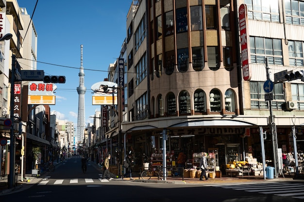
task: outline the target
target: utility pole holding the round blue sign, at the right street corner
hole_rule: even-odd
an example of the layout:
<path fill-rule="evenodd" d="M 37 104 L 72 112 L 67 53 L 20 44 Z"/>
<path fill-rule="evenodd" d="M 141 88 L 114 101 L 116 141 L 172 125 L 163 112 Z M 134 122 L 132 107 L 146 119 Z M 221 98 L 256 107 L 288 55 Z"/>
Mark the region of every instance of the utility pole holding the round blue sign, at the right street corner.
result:
<path fill-rule="evenodd" d="M 269 76 L 269 67 L 268 67 L 268 58 L 265 58 L 266 61 L 266 76 L 267 80 L 270 80 Z M 274 166 L 274 176 L 278 178 L 279 174 L 279 161 L 278 161 L 278 141 L 277 141 L 277 133 L 276 133 L 276 125 L 274 123 L 274 118 L 272 115 L 272 101 L 269 100 L 269 111 L 270 111 L 270 133 L 272 139 L 272 147 L 273 147 L 273 166 Z"/>

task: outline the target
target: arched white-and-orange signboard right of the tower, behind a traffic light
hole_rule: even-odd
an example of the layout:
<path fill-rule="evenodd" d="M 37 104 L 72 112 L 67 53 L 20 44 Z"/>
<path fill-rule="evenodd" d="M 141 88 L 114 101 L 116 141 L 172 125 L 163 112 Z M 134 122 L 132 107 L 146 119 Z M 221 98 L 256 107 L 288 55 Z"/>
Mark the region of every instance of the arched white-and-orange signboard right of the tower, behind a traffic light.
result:
<path fill-rule="evenodd" d="M 98 82 L 92 85 L 94 91 L 92 96 L 93 105 L 113 105 L 117 104 L 117 86 L 113 82 Z"/>

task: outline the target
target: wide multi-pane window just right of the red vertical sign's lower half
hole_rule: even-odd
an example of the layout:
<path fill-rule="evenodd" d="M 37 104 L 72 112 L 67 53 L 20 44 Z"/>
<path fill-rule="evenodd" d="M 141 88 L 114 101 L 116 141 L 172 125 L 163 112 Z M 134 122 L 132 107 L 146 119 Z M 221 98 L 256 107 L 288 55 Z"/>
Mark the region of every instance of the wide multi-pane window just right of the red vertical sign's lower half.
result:
<path fill-rule="evenodd" d="M 251 62 L 265 64 L 265 57 L 270 65 L 283 65 L 281 39 L 250 36 Z"/>

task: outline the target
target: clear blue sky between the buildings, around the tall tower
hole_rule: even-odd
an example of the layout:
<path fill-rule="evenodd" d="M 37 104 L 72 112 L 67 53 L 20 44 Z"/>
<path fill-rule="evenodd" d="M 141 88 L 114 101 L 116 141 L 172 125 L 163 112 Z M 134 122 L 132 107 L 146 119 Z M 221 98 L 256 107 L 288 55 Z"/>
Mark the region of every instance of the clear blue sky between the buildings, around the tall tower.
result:
<path fill-rule="evenodd" d="M 17 1 L 32 17 L 36 0 Z M 72 121 L 76 127 L 76 88 L 83 45 L 85 120 L 86 124 L 93 122 L 89 117 L 94 116 L 95 110 L 100 111 L 100 105 L 92 105 L 91 86 L 107 78 L 109 64 L 119 57 L 131 3 L 132 0 L 38 1 L 33 16 L 38 34 L 37 69 L 44 70 L 45 75 L 66 76 L 65 84 L 57 84 L 56 104 L 50 105 L 57 118 Z"/>

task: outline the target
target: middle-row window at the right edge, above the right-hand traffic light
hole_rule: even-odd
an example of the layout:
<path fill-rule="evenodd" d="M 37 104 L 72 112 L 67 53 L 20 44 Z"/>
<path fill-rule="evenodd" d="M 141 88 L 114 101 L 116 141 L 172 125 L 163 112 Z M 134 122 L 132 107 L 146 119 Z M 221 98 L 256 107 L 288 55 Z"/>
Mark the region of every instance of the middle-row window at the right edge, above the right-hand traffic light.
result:
<path fill-rule="evenodd" d="M 288 40 L 289 65 L 303 66 L 303 42 Z"/>

